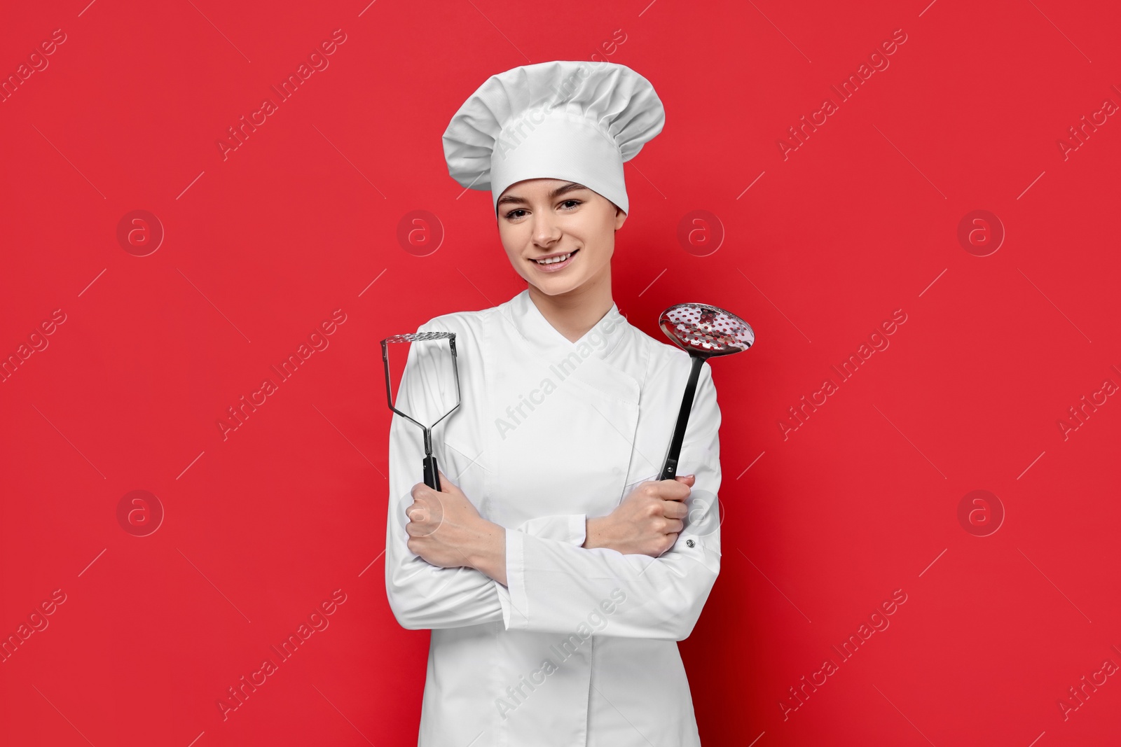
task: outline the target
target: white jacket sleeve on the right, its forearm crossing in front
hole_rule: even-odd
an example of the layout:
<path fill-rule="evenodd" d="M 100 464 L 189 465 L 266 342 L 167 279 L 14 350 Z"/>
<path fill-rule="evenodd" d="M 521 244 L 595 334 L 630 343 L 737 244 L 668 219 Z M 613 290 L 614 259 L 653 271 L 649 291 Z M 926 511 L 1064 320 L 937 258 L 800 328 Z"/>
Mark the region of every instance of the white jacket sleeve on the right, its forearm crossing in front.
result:
<path fill-rule="evenodd" d="M 660 557 L 507 532 L 507 586 L 494 587 L 506 629 L 687 638 L 720 572 L 720 421 L 704 364 L 677 470 L 696 475 L 689 514 Z"/>

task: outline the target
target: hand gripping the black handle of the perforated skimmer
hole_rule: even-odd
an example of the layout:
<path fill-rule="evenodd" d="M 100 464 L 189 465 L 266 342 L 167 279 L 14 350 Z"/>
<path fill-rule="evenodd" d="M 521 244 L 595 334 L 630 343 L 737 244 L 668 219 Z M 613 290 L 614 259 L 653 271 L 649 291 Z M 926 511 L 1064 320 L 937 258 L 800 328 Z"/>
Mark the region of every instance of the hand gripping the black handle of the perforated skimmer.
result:
<path fill-rule="evenodd" d="M 695 482 L 695 476 L 685 475 L 640 483 L 610 514 L 587 520 L 582 547 L 657 558 L 677 541 Z"/>

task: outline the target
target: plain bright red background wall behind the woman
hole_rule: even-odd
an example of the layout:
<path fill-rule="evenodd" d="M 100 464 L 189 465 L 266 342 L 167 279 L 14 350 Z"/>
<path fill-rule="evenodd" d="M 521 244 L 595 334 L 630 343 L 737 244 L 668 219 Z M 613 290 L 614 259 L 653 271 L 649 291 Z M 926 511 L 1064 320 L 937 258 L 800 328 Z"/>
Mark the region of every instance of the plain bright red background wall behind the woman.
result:
<path fill-rule="evenodd" d="M 65 323 L 0 383 L 0 633 L 66 600 L 0 664 L 0 741 L 415 743 L 428 634 L 386 601 L 378 340 L 524 287 L 441 136 L 488 76 L 596 53 L 667 111 L 627 165 L 620 309 L 657 335 L 663 308 L 703 300 L 758 336 L 713 365 L 724 562 L 680 645 L 704 744 L 1115 738 L 1119 678 L 1065 719 L 1058 700 L 1121 664 L 1121 403 L 1099 395 L 1066 438 L 1058 420 L 1121 383 L 1121 122 L 1057 143 L 1121 102 L 1118 21 L 1054 0 L 9 9 L 4 77 L 66 40 L 0 104 L 0 353 Z M 335 29 L 330 66 L 223 159 Z M 896 29 L 890 66 L 784 158 Z M 135 209 L 166 234 L 146 256 L 117 239 Z M 417 209 L 443 232 L 425 256 L 397 239 Z M 1007 232 L 986 256 L 957 239 L 975 209 Z M 720 222 L 697 234 L 722 232 L 715 252 L 678 241 L 691 211 Z M 226 408 L 335 309 L 330 347 L 223 440 Z M 896 309 L 890 346 L 840 383 L 831 365 Z M 826 377 L 840 390 L 784 438 Z M 147 536 L 118 521 L 137 489 L 165 512 Z M 975 489 L 1004 511 L 988 536 L 958 520 Z M 217 699 L 335 589 L 330 627 L 223 720 Z M 897 589 L 842 663 L 831 646 Z M 784 718 L 826 657 L 839 671 Z"/>

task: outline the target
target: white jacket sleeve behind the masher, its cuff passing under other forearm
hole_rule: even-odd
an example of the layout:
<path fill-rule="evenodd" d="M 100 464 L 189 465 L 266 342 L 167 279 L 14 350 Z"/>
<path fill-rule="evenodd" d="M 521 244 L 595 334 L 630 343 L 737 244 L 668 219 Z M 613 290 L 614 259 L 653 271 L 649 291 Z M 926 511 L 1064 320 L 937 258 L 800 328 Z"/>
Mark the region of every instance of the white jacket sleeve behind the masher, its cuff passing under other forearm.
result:
<path fill-rule="evenodd" d="M 442 329 L 428 321 L 417 332 Z M 442 343 L 442 344 L 441 344 Z M 398 410 L 430 423 L 446 411 L 442 366 L 447 356 L 445 340 L 413 343 L 397 392 Z M 446 403 L 446 405 L 445 405 Z M 454 415 L 453 415 L 454 417 Z M 427 419 L 427 420 L 426 420 Z M 393 413 L 389 430 L 389 507 L 386 521 L 386 595 L 397 622 L 410 631 L 462 627 L 502 619 L 494 579 L 474 568 L 438 568 L 408 548 L 405 510 L 413 503 L 413 486 L 420 482 L 424 433 Z M 584 514 L 531 519 L 518 527 L 554 542 L 584 543 Z M 513 533 L 513 532 L 510 532 Z"/>

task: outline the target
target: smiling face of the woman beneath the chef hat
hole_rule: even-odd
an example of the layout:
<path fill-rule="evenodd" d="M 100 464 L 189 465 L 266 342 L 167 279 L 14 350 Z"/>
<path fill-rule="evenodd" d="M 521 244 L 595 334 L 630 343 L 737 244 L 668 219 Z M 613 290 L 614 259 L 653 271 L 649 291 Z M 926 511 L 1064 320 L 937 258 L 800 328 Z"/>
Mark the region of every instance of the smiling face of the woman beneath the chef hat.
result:
<path fill-rule="evenodd" d="M 498 200 L 498 232 L 510 263 L 547 296 L 610 281 L 615 231 L 626 220 L 611 200 L 566 179 L 518 181 Z M 555 258 L 562 261 L 538 261 Z"/>

